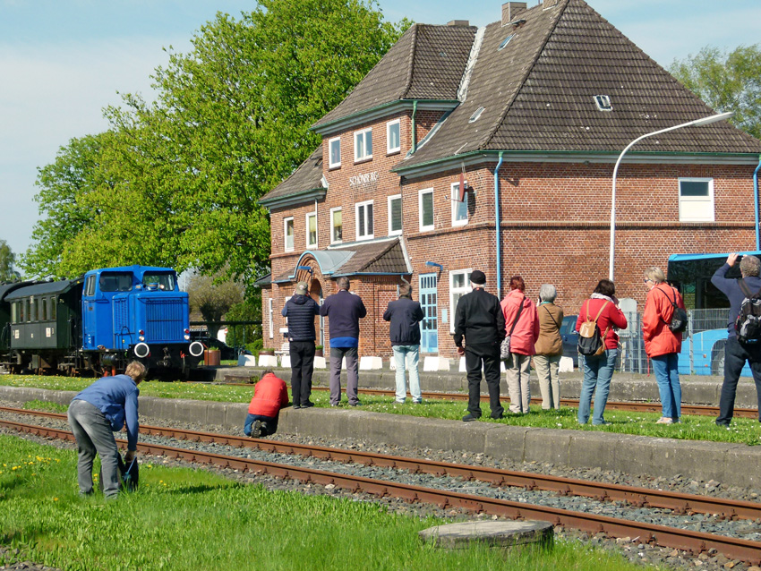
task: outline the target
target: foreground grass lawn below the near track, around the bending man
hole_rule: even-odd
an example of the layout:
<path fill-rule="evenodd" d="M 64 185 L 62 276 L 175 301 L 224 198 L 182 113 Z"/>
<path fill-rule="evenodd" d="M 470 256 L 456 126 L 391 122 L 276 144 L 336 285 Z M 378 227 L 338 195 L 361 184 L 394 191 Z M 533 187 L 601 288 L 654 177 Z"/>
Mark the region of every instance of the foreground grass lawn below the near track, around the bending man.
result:
<path fill-rule="evenodd" d="M 98 466 L 96 465 L 96 473 Z M 378 504 L 269 491 L 205 471 L 143 462 L 140 490 L 82 498 L 73 450 L 0 435 L 0 545 L 67 570 L 579 569 L 641 566 L 603 550 L 438 550 L 417 532 L 442 523 Z M 0 558 L 0 565 L 3 565 Z"/>

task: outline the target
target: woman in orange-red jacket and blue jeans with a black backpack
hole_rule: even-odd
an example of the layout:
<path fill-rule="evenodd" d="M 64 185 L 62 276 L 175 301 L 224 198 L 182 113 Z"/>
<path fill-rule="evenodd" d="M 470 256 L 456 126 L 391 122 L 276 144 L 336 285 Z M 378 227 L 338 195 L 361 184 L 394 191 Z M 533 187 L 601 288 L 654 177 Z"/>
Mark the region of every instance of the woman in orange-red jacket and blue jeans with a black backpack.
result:
<path fill-rule="evenodd" d="M 681 333 L 669 328 L 674 313 L 673 303 L 684 309 L 684 301 L 675 287 L 665 283 L 661 268 L 645 270 L 645 286 L 650 291 L 645 301 L 642 315 L 642 335 L 645 337 L 645 353 L 653 362 L 658 392 L 661 393 L 663 414 L 658 424 L 680 422 L 681 385 L 679 375 L 679 353 Z"/>

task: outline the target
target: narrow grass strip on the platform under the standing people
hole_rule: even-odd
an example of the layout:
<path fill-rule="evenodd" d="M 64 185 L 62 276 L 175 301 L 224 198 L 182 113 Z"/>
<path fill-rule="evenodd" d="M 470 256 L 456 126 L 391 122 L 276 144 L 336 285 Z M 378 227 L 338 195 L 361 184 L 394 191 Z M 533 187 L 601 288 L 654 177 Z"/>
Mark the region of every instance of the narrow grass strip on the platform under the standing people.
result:
<path fill-rule="evenodd" d="M 58 390 L 81 390 L 90 385 L 93 379 L 69 379 L 67 377 L 38 377 L 24 375 L 0 376 L 0 385 L 13 387 L 38 387 Z M 191 398 L 219 402 L 248 403 L 253 395 L 253 386 L 238 387 L 230 385 L 209 385 L 201 383 L 162 383 L 148 382 L 141 384 L 141 396 L 159 396 L 163 398 Z M 423 405 L 414 405 L 407 400 L 405 405 L 394 403 L 393 396 L 360 395 L 362 410 L 377 413 L 407 414 L 426 418 L 440 418 L 459 421 L 466 411 L 465 401 L 426 400 Z M 344 396 L 346 399 L 346 396 Z M 329 406 L 327 391 L 313 391 L 312 401 L 317 406 Z M 503 399 L 503 405 L 506 399 Z M 346 400 L 344 400 L 346 404 Z M 594 404 L 594 403 L 593 403 Z M 560 412 L 543 411 L 540 406 L 532 406 L 532 413 L 526 415 L 508 415 L 500 421 L 489 418 L 489 405 L 482 403 L 483 416 L 480 422 L 499 422 L 514 426 L 532 426 L 536 428 L 600 430 L 620 434 L 653 436 L 686 440 L 708 440 L 712 442 L 732 442 L 748 445 L 761 444 L 761 424 L 755 419 L 736 418 L 730 428 L 715 425 L 713 416 L 682 416 L 680 424 L 655 424 L 659 413 L 634 413 L 630 411 L 605 412 L 609 426 L 592 426 L 591 423 L 580 426 L 577 422 L 577 410 L 563 407 Z"/>

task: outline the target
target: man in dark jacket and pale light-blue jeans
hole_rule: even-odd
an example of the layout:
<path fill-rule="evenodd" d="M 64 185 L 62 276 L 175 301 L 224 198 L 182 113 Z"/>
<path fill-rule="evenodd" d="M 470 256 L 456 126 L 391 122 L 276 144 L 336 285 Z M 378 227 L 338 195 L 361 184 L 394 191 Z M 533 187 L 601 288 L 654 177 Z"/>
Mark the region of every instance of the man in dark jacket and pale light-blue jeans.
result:
<path fill-rule="evenodd" d="M 412 301 L 412 285 L 399 285 L 399 299 L 389 302 L 383 313 L 383 319 L 390 321 L 389 334 L 391 347 L 394 349 L 394 362 L 397 365 L 397 397 L 399 404 L 405 402 L 405 362 L 409 369 L 409 392 L 412 402 L 420 405 L 420 372 L 417 364 L 420 360 L 420 322 L 423 320 L 423 308 L 420 303 Z"/>

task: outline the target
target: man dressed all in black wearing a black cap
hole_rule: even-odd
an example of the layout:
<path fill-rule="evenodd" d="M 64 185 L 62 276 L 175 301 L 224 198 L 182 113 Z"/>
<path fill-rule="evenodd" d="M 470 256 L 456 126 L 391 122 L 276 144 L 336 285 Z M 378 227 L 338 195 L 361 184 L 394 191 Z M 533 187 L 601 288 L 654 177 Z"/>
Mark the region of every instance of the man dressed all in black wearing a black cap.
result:
<path fill-rule="evenodd" d="M 500 345 L 505 338 L 505 316 L 496 295 L 483 289 L 486 276 L 475 269 L 470 275 L 473 291 L 463 295 L 455 311 L 455 345 L 457 354 L 465 355 L 467 370 L 467 411 L 463 421 L 481 418 L 481 367 L 489 388 L 492 418 L 502 418 L 500 404 Z M 465 337 L 466 345 L 462 342 Z"/>

